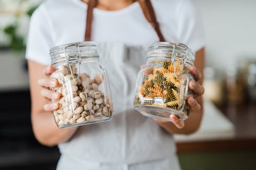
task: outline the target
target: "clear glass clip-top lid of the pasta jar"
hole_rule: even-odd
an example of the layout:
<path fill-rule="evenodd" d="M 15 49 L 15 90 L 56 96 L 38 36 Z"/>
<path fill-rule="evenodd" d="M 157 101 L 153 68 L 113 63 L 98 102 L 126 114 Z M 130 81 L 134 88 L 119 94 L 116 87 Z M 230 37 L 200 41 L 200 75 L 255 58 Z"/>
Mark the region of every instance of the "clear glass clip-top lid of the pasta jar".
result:
<path fill-rule="evenodd" d="M 147 58 L 149 57 L 167 57 L 172 60 L 175 58 L 185 59 L 185 62 L 193 65 L 195 52 L 182 43 L 156 42 L 148 47 Z"/>

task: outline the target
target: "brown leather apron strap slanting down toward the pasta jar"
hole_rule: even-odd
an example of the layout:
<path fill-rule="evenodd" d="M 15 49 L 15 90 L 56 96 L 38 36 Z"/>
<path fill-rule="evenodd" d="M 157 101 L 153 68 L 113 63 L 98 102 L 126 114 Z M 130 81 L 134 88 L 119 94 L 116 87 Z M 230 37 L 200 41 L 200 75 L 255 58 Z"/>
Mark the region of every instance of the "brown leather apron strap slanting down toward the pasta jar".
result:
<path fill-rule="evenodd" d="M 155 31 L 159 37 L 159 40 L 165 41 L 164 37 L 162 35 L 162 32 L 159 28 L 159 23 L 157 21 L 156 14 L 155 14 L 155 11 L 154 11 L 151 1 L 150 0 L 138 0 L 138 3 L 140 4 L 140 7 L 143 11 L 145 18 L 147 19 L 148 22 L 151 23 L 152 27 L 155 29 Z"/>

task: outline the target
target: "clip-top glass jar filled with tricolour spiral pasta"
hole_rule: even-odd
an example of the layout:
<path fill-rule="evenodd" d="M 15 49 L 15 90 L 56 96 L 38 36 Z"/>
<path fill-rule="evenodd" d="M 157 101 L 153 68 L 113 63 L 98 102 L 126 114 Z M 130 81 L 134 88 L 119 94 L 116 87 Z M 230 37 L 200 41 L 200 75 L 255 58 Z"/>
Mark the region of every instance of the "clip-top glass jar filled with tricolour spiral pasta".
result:
<path fill-rule="evenodd" d="M 182 43 L 157 42 L 148 47 L 136 82 L 134 108 L 148 117 L 188 118 L 191 109 L 186 99 L 193 95 L 188 82 L 194 80 L 188 68 L 194 60 L 195 53 Z"/>

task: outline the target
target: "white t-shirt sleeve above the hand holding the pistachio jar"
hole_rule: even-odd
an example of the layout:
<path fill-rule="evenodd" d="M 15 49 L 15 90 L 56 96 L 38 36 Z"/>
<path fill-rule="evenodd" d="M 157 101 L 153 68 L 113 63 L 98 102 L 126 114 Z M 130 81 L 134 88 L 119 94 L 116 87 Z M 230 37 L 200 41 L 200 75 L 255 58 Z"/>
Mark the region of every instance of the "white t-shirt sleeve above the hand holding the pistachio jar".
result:
<path fill-rule="evenodd" d="M 26 58 L 40 64 L 51 64 L 49 49 L 53 47 L 53 31 L 44 4 L 33 13 L 27 39 Z"/>

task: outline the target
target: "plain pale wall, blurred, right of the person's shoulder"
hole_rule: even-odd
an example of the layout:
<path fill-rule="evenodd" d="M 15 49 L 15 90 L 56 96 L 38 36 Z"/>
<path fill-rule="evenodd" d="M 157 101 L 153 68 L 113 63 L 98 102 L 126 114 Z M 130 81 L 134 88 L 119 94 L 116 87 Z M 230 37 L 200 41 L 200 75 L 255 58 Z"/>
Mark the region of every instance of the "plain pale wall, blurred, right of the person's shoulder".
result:
<path fill-rule="evenodd" d="M 194 0 L 206 38 L 206 65 L 226 68 L 243 57 L 256 60 L 255 0 Z"/>

